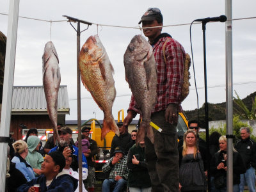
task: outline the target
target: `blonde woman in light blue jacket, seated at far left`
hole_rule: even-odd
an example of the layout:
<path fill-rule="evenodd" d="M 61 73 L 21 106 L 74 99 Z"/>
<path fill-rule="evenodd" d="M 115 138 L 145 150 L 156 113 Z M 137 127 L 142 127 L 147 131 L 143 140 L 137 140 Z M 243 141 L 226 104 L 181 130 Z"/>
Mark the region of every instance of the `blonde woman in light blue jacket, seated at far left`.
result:
<path fill-rule="evenodd" d="M 35 173 L 33 172 L 33 168 L 28 164 L 25 160 L 26 156 L 28 156 L 28 145 L 25 141 L 19 140 L 15 141 L 12 144 L 15 156 L 12 158 L 12 162 L 15 163 L 15 168 L 20 170 L 25 178 L 30 181 L 35 178 Z"/>

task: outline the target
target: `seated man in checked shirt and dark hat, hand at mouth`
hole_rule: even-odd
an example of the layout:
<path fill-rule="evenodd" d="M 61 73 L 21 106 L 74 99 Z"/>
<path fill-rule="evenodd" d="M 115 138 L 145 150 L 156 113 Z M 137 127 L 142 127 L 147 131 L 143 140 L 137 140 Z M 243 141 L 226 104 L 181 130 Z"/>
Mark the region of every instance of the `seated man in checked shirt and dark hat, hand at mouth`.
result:
<path fill-rule="evenodd" d="M 114 157 L 111 157 L 108 163 L 102 167 L 103 172 L 109 172 L 109 179 L 105 179 L 102 184 L 102 191 L 108 192 L 121 191 L 127 185 L 128 168 L 126 166 L 127 156 L 125 156 L 124 148 L 116 147 Z"/>

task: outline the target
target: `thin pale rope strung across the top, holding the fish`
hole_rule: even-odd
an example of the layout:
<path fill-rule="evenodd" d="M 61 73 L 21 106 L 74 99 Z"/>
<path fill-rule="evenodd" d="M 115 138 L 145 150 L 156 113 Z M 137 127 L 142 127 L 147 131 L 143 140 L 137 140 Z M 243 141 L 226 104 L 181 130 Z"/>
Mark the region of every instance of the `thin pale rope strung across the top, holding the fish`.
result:
<path fill-rule="evenodd" d="M 5 13 L 0 13 L 0 15 L 8 15 Z M 40 20 L 40 21 L 44 21 L 44 22 L 67 22 L 68 20 L 44 20 L 44 19 L 35 19 L 35 18 L 31 18 L 31 17 L 22 17 L 19 16 L 20 18 L 23 19 L 31 19 L 31 20 Z M 230 19 L 230 20 L 245 20 L 245 19 L 256 19 L 256 17 L 244 17 L 244 18 L 238 18 L 238 19 Z M 195 24 L 200 24 L 201 22 L 196 22 Z M 106 26 L 106 27 L 111 27 L 111 28 L 127 28 L 127 29 L 149 29 L 149 28 L 141 28 L 140 26 L 138 27 L 127 27 L 127 26 L 114 26 L 114 25 L 107 25 L 107 24 L 97 24 L 97 23 L 93 23 L 92 24 L 96 25 L 97 28 L 98 26 Z M 188 26 L 190 25 L 190 23 L 186 23 L 186 24 L 173 24 L 173 25 L 167 25 L 167 26 L 161 26 L 163 28 L 167 28 L 167 27 L 175 27 L 175 26 Z M 150 28 L 159 28 L 159 26 L 156 27 L 150 27 Z"/>

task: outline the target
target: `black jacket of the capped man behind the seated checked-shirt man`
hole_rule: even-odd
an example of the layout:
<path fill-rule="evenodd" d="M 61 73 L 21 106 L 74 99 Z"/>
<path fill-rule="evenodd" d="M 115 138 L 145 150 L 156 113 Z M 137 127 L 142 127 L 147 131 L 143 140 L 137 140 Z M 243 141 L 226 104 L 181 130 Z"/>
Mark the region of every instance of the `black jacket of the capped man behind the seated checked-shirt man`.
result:
<path fill-rule="evenodd" d="M 123 147 L 125 150 L 125 155 L 127 156 L 130 147 L 128 143 L 130 142 L 132 142 L 132 138 L 131 134 L 129 134 L 128 132 L 120 134 L 119 137 L 115 135 L 111 143 L 110 157 L 114 156 L 114 151 L 116 147 Z"/>

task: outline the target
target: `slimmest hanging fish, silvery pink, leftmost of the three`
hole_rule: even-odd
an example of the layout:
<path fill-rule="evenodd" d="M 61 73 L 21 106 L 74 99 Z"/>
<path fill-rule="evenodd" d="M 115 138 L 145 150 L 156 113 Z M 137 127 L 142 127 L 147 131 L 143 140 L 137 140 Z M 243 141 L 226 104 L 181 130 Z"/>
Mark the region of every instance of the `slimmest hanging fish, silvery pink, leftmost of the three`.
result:
<path fill-rule="evenodd" d="M 43 84 L 47 111 L 52 122 L 54 133 L 60 143 L 57 129 L 58 117 L 58 92 L 60 88 L 59 58 L 52 42 L 47 42 L 44 47 L 43 59 Z"/>

